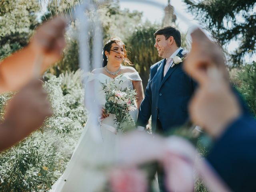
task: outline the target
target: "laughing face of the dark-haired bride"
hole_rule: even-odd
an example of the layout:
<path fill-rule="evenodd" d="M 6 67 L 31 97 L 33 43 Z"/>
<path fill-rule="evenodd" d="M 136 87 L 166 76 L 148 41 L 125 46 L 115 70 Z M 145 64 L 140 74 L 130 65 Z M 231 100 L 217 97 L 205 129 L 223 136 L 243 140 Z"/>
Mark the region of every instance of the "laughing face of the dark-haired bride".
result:
<path fill-rule="evenodd" d="M 108 61 L 112 64 L 121 64 L 124 60 L 124 48 L 122 44 L 113 43 L 109 52 L 105 53 Z"/>

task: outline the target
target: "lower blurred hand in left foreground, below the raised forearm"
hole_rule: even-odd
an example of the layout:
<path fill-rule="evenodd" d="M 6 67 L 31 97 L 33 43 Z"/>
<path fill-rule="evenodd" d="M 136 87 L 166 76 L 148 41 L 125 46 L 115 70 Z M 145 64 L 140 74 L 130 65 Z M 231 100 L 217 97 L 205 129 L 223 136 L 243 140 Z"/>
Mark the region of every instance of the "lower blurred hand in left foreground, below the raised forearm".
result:
<path fill-rule="evenodd" d="M 6 106 L 0 125 L 0 150 L 8 148 L 39 128 L 52 115 L 40 80 L 32 80 Z"/>

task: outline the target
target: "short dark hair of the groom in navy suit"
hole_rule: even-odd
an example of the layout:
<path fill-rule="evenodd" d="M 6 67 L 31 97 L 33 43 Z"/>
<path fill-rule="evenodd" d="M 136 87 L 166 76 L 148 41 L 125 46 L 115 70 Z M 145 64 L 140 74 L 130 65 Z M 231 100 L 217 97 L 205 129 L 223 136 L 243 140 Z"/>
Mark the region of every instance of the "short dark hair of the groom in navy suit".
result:
<path fill-rule="evenodd" d="M 170 36 L 173 36 L 176 45 L 178 47 L 181 46 L 181 35 L 180 35 L 180 31 L 173 26 L 167 26 L 161 29 L 158 29 L 155 33 L 154 36 L 156 38 L 157 35 L 164 35 L 165 39 L 168 39 Z"/>

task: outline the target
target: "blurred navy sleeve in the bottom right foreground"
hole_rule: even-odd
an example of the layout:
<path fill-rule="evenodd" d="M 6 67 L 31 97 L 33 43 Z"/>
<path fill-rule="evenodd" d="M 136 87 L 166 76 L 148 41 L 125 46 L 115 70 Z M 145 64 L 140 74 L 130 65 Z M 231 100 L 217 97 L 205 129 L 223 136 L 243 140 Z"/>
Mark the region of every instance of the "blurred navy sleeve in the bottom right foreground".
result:
<path fill-rule="evenodd" d="M 208 161 L 233 191 L 256 191 L 256 120 L 235 120 L 214 144 Z"/>

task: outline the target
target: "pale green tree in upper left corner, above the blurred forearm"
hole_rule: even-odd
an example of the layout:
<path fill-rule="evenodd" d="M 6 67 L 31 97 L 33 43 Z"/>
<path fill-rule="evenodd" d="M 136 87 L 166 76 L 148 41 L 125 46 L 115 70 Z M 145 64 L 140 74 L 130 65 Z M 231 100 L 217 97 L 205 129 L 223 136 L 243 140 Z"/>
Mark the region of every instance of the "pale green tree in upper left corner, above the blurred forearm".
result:
<path fill-rule="evenodd" d="M 39 22 L 38 0 L 4 0 L 0 3 L 0 60 L 24 47 Z"/>

